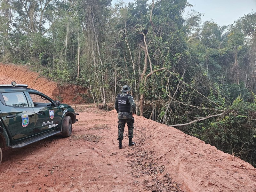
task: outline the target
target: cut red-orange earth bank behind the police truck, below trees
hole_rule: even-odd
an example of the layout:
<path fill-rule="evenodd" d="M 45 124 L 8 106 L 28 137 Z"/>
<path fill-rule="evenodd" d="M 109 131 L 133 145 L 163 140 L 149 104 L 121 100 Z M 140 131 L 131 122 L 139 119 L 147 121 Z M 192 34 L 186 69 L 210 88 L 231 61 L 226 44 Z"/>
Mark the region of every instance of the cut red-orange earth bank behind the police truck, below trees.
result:
<path fill-rule="evenodd" d="M 69 84 L 60 85 L 40 77 L 38 73 L 29 71 L 28 66 L 0 63 L 0 84 L 11 84 L 12 81 L 16 81 L 17 84 L 27 84 L 29 88 L 68 104 L 86 103 L 86 95 L 90 95 L 83 87 Z"/>

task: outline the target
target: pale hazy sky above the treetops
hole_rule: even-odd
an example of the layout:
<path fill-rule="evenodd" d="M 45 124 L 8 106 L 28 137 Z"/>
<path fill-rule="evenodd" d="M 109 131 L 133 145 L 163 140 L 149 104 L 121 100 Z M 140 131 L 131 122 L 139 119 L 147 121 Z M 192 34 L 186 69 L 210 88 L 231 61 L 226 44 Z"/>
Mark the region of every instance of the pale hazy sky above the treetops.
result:
<path fill-rule="evenodd" d="M 113 0 L 113 3 L 117 1 Z M 133 0 L 123 1 L 133 2 Z M 218 25 L 232 24 L 244 14 L 256 11 L 256 0 L 188 0 L 188 3 L 194 7 L 187 8 L 186 13 L 191 9 L 204 13 L 202 21 L 213 20 Z"/>

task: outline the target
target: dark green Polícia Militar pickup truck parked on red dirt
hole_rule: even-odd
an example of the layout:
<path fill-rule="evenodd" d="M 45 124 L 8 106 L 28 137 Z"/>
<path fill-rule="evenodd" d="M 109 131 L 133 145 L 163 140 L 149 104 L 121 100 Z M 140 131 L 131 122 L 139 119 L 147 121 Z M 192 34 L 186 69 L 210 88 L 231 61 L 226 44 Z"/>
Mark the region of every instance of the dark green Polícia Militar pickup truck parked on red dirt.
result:
<path fill-rule="evenodd" d="M 28 85 L 0 85 L 0 163 L 1 148 L 21 148 L 61 133 L 69 137 L 76 121 L 74 109 Z"/>

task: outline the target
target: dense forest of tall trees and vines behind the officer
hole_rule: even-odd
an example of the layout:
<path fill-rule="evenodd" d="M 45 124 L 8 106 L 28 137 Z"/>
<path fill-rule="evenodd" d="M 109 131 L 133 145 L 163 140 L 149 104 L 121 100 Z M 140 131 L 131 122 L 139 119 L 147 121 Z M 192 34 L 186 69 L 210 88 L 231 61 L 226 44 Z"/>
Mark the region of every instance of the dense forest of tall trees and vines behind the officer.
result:
<path fill-rule="evenodd" d="M 184 16 L 189 0 L 0 0 L 0 61 L 113 103 L 256 166 L 256 13 L 228 26 Z M 60 98 L 61 99 L 61 98 Z"/>

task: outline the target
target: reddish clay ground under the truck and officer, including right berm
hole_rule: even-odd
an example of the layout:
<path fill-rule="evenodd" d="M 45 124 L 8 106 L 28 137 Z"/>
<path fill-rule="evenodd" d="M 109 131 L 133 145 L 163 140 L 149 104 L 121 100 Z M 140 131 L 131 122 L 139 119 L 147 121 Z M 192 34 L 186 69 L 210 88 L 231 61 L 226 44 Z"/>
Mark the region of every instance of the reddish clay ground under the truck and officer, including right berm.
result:
<path fill-rule="evenodd" d="M 253 192 L 256 169 L 183 132 L 135 116 L 118 148 L 117 113 L 76 108 L 69 138 L 4 149 L 0 191 Z"/>

